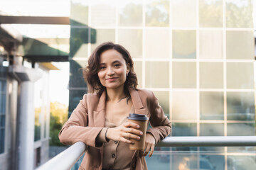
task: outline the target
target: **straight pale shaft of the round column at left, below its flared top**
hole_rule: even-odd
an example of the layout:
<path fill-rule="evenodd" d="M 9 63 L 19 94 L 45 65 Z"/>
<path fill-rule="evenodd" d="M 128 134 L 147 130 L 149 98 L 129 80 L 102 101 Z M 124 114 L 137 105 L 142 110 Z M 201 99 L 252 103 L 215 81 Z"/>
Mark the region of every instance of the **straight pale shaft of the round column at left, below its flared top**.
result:
<path fill-rule="evenodd" d="M 33 144 L 35 111 L 33 107 L 33 82 L 23 81 L 18 95 L 18 169 L 33 169 Z"/>

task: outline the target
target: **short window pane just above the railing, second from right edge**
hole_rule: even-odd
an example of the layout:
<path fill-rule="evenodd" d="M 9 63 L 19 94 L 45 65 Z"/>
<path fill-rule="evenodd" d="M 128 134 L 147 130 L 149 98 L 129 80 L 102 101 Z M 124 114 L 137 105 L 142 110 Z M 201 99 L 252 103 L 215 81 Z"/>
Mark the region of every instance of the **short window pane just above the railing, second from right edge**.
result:
<path fill-rule="evenodd" d="M 223 136 L 223 123 L 200 123 L 200 136 Z"/>

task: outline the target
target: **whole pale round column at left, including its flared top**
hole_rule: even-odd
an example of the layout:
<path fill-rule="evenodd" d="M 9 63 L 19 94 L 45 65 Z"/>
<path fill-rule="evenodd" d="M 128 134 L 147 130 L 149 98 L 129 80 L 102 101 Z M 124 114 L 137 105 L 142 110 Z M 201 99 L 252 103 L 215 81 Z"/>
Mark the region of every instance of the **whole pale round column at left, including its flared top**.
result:
<path fill-rule="evenodd" d="M 18 81 L 17 138 L 18 138 L 18 170 L 33 170 L 34 162 L 34 127 L 35 111 L 33 105 L 34 82 L 42 77 L 37 69 L 29 69 L 21 65 L 9 67 L 9 74 Z"/>

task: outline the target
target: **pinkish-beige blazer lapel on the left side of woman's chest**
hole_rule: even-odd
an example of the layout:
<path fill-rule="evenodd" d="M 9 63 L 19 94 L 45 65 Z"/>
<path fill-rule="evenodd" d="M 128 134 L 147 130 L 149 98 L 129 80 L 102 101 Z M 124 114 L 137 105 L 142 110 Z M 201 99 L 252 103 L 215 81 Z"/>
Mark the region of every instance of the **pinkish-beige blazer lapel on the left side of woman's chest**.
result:
<path fill-rule="evenodd" d="M 106 92 L 103 91 L 97 105 L 97 111 L 93 112 L 95 127 L 105 127 Z"/>

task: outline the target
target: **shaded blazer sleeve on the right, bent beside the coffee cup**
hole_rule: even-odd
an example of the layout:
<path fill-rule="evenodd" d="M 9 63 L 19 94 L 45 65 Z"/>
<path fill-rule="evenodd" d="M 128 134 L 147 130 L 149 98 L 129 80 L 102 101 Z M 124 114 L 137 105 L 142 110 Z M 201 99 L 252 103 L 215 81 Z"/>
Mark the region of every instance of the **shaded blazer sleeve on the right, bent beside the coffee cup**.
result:
<path fill-rule="evenodd" d="M 151 93 L 152 98 L 149 105 L 149 122 L 152 128 L 147 130 L 147 132 L 154 136 L 157 144 L 171 133 L 171 122 L 164 114 L 163 108 L 159 105 L 156 96 L 154 96 L 152 91 Z"/>

